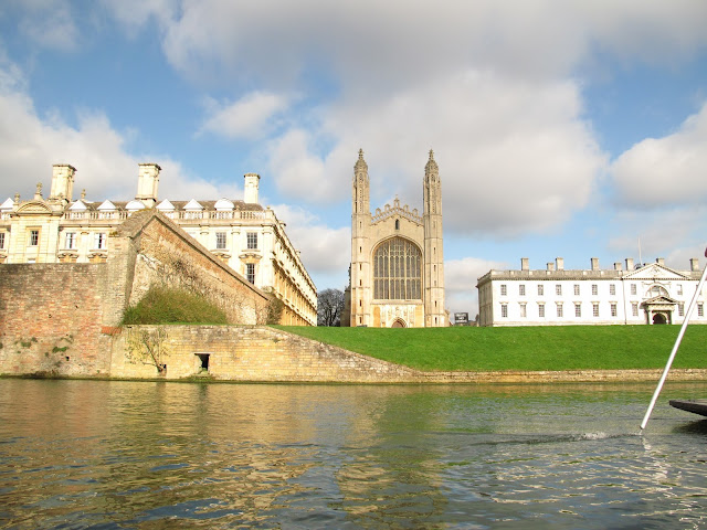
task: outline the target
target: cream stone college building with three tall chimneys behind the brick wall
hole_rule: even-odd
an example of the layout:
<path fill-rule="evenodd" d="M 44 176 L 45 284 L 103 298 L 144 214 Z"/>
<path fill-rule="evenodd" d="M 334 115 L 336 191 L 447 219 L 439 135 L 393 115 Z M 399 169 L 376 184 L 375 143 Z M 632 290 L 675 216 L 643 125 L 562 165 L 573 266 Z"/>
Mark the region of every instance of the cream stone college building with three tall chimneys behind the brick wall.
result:
<path fill-rule="evenodd" d="M 74 200 L 76 169 L 55 165 L 49 197 L 42 184 L 30 200 L 0 204 L 0 264 L 102 263 L 110 234 L 133 213 L 156 209 L 251 284 L 282 300 L 281 324 L 316 326 L 317 290 L 285 223 L 258 203 L 260 176 L 245 174 L 243 200 L 158 199 L 157 163 L 140 163 L 135 199 Z"/>

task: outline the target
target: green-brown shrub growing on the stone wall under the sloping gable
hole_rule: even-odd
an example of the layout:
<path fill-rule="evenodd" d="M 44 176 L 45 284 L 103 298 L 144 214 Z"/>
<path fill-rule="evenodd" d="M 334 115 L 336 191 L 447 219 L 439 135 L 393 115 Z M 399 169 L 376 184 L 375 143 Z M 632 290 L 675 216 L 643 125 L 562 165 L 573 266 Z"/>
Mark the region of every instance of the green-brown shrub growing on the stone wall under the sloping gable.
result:
<path fill-rule="evenodd" d="M 184 289 L 150 287 L 123 316 L 123 325 L 228 324 L 225 314 L 205 297 Z"/>

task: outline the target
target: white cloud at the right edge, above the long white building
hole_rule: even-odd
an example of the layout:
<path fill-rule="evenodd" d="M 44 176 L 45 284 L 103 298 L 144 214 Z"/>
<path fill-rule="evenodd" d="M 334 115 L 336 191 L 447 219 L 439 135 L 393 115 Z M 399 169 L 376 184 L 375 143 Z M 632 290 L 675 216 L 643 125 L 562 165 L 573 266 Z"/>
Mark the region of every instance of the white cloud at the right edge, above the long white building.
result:
<path fill-rule="evenodd" d="M 611 167 L 618 200 L 629 208 L 700 204 L 707 199 L 707 103 L 674 134 L 646 138 Z"/>

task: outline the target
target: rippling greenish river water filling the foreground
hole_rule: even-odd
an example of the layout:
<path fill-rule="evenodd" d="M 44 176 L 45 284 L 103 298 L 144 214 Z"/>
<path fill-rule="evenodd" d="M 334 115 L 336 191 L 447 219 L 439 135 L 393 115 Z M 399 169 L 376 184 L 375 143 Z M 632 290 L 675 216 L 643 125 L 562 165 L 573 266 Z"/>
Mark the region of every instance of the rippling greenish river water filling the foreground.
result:
<path fill-rule="evenodd" d="M 0 380 L 0 528 L 707 528 L 652 391 Z"/>

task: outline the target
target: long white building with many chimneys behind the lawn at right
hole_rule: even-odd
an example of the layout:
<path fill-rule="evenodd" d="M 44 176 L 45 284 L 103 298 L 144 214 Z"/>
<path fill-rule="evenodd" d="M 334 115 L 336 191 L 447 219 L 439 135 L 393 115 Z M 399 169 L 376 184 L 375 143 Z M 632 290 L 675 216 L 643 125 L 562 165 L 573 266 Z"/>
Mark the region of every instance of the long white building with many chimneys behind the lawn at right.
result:
<path fill-rule="evenodd" d="M 566 271 L 558 257 L 547 268 L 489 271 L 478 278 L 479 326 L 566 326 L 682 324 L 701 271 L 697 258 L 689 271 L 673 271 L 663 258 L 634 266 L 633 259 L 602 271 Z M 705 290 L 690 321 L 707 324 Z"/>

